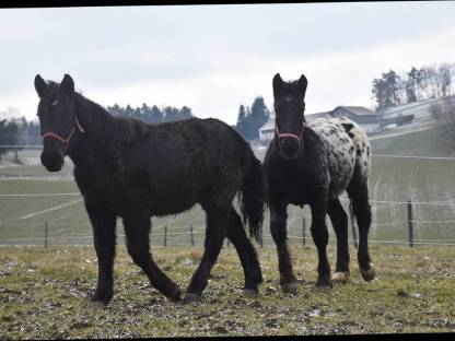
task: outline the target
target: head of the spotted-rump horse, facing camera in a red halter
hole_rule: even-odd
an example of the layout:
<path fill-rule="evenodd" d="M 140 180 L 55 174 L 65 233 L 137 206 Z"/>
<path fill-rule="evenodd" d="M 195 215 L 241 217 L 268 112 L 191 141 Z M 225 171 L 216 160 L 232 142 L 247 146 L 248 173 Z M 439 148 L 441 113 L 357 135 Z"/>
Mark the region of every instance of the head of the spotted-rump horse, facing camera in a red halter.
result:
<path fill-rule="evenodd" d="M 285 158 L 298 157 L 299 149 L 303 148 L 306 85 L 303 74 L 294 82 L 283 82 L 279 73 L 273 77 L 276 137 Z"/>

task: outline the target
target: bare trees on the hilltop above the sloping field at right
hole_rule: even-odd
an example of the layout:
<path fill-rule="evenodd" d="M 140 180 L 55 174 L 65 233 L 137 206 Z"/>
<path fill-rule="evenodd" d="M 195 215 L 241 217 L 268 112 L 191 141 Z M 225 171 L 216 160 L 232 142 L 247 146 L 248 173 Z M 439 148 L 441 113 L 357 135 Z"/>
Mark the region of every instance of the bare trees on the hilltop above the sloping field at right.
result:
<path fill-rule="evenodd" d="M 418 101 L 452 95 L 452 75 L 454 63 L 412 67 L 408 72 L 398 74 L 394 70 L 382 73 L 372 82 L 372 93 L 376 110 Z"/>

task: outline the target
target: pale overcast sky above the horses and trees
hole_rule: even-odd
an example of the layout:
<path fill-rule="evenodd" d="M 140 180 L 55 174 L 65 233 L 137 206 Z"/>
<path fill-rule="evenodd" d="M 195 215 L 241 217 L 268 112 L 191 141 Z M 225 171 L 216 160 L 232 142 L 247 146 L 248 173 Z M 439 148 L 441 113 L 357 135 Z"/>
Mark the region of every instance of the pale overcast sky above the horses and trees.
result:
<path fill-rule="evenodd" d="M 32 119 L 36 73 L 70 73 L 107 106 L 191 107 L 236 121 L 272 107 L 276 72 L 308 79 L 306 111 L 373 107 L 381 72 L 455 62 L 455 2 L 0 9 L 0 111 Z"/>

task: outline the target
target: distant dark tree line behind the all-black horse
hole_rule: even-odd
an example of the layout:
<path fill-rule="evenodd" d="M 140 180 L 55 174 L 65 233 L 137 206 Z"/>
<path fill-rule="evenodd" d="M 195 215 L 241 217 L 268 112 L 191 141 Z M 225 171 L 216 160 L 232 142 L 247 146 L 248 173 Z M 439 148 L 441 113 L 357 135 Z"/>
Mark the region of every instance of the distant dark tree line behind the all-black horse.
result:
<path fill-rule="evenodd" d="M 160 109 L 145 103 L 141 107 L 132 108 L 129 104 L 121 107 L 118 104 L 106 108 L 114 116 L 140 119 L 144 122 L 168 122 L 192 117 L 191 109 L 187 106 L 182 109 L 166 106 Z M 18 152 L 20 148 L 12 145 L 39 145 L 42 144 L 39 122 L 27 120 L 25 117 L 0 119 L 0 158 L 9 152 Z M 18 158 L 18 155 L 16 155 Z"/>

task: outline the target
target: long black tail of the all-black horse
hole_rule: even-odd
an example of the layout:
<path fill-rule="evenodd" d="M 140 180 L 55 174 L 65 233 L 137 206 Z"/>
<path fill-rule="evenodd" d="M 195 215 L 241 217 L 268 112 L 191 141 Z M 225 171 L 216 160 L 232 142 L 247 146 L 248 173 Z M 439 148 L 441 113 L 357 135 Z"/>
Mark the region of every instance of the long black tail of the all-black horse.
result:
<path fill-rule="evenodd" d="M 248 148 L 249 168 L 243 180 L 238 192 L 238 201 L 243 216 L 243 223 L 248 223 L 249 235 L 257 242 L 261 240 L 261 227 L 264 221 L 264 210 L 266 204 L 264 173 L 260 161 L 256 158 L 253 151 Z"/>

